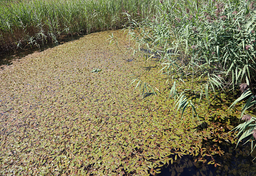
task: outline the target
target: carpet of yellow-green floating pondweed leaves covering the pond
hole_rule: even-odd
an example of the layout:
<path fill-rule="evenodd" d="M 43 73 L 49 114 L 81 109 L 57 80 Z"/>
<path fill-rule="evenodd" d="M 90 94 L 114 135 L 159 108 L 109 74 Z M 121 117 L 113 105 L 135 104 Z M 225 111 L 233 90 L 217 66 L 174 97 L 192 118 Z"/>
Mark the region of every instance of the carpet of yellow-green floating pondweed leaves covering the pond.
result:
<path fill-rule="evenodd" d="M 106 40 L 112 33 L 118 46 Z M 161 65 L 133 56 L 132 44 L 122 31 L 94 33 L 4 66 L 0 175 L 255 175 L 249 146 L 226 136 L 239 110 L 199 108 L 208 128 L 197 130 L 167 98 Z M 142 98 L 135 78 L 158 95 Z"/>

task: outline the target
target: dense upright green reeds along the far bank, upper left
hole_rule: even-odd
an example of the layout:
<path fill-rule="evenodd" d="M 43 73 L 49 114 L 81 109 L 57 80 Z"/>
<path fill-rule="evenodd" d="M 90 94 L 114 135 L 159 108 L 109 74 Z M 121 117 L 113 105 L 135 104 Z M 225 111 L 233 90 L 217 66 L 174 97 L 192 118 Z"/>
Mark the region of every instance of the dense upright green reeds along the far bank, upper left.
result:
<path fill-rule="evenodd" d="M 78 1 L 8 1 L 0 2 L 0 54 L 28 45 L 57 44 L 63 35 L 88 34 L 99 30 L 122 28 L 127 20 L 151 16 L 150 0 L 78 0 Z"/>

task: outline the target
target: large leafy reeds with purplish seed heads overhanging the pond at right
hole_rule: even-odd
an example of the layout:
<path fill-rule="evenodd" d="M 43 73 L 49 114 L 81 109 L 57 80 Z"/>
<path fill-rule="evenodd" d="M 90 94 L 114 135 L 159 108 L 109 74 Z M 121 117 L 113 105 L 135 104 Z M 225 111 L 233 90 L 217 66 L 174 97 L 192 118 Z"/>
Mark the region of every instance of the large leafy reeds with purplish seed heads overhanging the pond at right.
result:
<path fill-rule="evenodd" d="M 156 14 L 160 15 L 131 21 L 134 28 L 130 35 L 139 48 L 151 51 L 147 59 L 160 58 L 160 72 L 166 74 L 166 84 L 172 87 L 169 97 L 176 100 L 177 112 L 180 110 L 182 117 L 187 115 L 186 109 L 191 109 L 203 124 L 206 119 L 197 114 L 205 108 L 199 106 L 200 102 L 208 106 L 210 99 L 219 99 L 223 103 L 227 92 L 237 93 L 241 96 L 230 102 L 230 109 L 247 100 L 240 117 L 245 122 L 235 128 L 237 137 L 241 135 L 239 142 L 248 137 L 251 149 L 255 149 L 256 2 L 166 0 L 158 7 Z M 140 76 L 133 80 L 142 94 L 144 90 L 154 93 L 142 80 Z"/>

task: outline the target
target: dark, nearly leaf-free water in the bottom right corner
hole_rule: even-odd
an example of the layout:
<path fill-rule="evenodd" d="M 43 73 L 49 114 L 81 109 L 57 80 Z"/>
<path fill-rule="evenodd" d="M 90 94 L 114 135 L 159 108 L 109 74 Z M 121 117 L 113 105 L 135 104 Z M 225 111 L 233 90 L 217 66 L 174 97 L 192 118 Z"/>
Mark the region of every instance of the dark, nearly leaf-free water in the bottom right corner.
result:
<path fill-rule="evenodd" d="M 214 156 L 220 166 L 207 164 L 211 159 L 204 162 L 195 162 L 193 156 L 183 156 L 174 161 L 173 164 L 165 165 L 161 168 L 161 173 L 157 176 L 254 176 L 256 175 L 256 162 L 250 155 L 250 143 L 246 145 L 226 143 L 223 145 L 224 155 Z M 253 154 L 254 156 L 255 153 Z"/>

